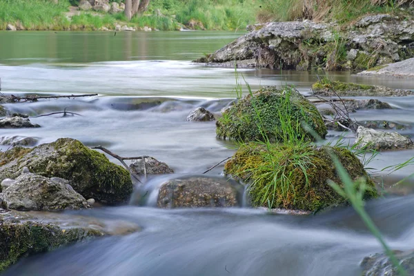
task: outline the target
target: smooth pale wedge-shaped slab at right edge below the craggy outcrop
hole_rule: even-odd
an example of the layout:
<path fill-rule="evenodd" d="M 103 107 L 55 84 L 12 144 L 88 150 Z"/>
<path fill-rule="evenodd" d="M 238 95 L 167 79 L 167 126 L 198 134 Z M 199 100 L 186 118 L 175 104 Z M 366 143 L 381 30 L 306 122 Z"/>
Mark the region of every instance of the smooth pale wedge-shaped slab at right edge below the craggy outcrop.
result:
<path fill-rule="evenodd" d="M 378 77 L 414 77 L 414 58 L 378 66 L 359 72 L 358 75 Z"/>

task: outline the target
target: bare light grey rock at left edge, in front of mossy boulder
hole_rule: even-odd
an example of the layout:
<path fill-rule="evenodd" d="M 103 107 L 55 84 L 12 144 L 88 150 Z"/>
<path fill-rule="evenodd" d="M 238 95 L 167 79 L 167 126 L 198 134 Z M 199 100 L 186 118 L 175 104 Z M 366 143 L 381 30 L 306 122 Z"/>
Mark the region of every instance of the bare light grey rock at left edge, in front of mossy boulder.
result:
<path fill-rule="evenodd" d="M 3 190 L 3 201 L 12 210 L 62 210 L 88 208 L 88 202 L 59 181 L 26 173 Z"/>

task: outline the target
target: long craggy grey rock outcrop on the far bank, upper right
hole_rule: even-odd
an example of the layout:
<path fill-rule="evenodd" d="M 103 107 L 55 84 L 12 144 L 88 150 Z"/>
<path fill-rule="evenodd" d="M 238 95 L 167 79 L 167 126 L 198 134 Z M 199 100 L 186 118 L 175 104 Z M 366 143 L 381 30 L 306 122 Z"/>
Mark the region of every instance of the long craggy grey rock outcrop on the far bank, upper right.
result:
<path fill-rule="evenodd" d="M 198 59 L 213 65 L 287 70 L 365 70 L 414 56 L 412 14 L 376 14 L 345 28 L 313 21 L 270 22 Z M 339 52 L 340 50 L 341 52 Z M 252 62 L 253 61 L 253 64 Z"/>

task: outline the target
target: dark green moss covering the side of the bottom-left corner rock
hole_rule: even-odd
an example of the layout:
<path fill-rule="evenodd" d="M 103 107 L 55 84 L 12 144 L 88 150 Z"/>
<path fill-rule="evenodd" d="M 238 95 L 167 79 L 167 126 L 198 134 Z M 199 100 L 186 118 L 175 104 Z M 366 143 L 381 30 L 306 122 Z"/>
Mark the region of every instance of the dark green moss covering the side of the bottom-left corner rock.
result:
<path fill-rule="evenodd" d="M 21 257 L 101 235 L 97 230 L 83 228 L 63 230 L 51 224 L 0 221 L 0 273 Z"/>

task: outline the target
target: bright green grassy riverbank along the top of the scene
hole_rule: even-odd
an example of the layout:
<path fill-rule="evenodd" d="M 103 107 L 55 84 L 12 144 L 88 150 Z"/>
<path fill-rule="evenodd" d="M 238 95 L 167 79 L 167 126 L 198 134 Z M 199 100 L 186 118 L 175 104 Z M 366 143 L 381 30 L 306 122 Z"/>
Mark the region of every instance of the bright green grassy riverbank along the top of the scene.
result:
<path fill-rule="evenodd" d="M 117 24 L 158 30 L 243 30 L 248 24 L 273 20 L 346 23 L 363 14 L 393 12 L 404 3 L 408 0 L 152 0 L 147 12 L 128 22 L 122 12 L 70 10 L 70 0 L 0 0 L 0 30 L 8 23 L 23 30 L 99 30 Z"/>

